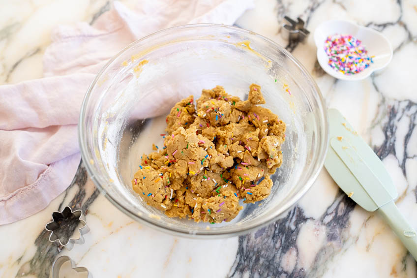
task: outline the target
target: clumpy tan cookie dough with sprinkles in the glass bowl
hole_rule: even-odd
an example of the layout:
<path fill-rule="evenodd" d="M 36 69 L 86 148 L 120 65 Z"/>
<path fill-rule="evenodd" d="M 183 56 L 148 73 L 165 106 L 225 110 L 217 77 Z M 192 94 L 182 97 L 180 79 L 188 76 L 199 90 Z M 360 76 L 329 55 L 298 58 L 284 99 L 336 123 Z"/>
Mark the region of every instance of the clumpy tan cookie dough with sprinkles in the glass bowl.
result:
<path fill-rule="evenodd" d="M 179 101 L 166 118 L 164 147 L 143 154 L 133 190 L 169 217 L 220 223 L 244 203 L 268 197 L 269 176 L 282 164 L 285 123 L 269 109 L 261 87 L 247 100 L 223 87 Z M 153 145 L 153 150 L 157 150 Z"/>

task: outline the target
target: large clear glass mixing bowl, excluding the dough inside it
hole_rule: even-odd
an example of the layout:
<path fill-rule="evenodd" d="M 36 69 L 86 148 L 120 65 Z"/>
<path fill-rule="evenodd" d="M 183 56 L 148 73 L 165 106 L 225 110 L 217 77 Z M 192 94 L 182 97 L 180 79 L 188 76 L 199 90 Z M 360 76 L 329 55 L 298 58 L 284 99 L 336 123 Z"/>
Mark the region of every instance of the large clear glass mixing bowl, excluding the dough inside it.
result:
<path fill-rule="evenodd" d="M 163 146 L 165 117 L 180 99 L 221 85 L 247 98 L 262 86 L 264 107 L 287 124 L 283 164 L 267 199 L 244 205 L 231 222 L 195 223 L 169 218 L 132 190 L 142 154 Z M 81 154 L 93 182 L 121 211 L 166 232 L 191 237 L 247 233 L 276 220 L 310 188 L 328 144 L 323 97 L 289 52 L 251 31 L 213 24 L 153 33 L 123 49 L 98 73 L 79 122 Z"/>

